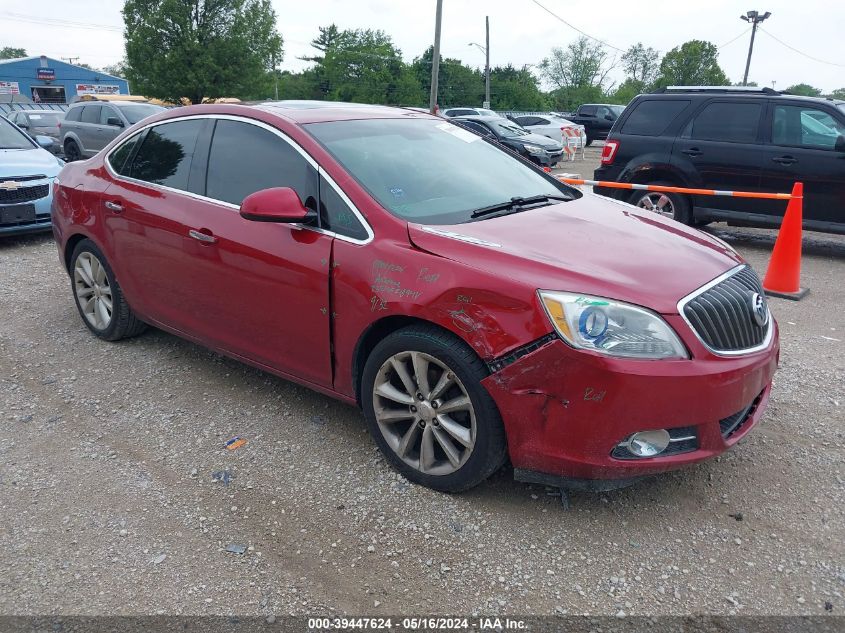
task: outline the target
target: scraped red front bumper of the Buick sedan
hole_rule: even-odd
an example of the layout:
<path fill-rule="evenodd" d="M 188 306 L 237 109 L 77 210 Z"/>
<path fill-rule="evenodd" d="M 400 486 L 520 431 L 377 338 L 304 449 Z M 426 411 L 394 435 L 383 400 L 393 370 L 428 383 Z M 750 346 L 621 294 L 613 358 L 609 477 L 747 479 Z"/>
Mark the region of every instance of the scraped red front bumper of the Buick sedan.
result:
<path fill-rule="evenodd" d="M 714 457 L 749 432 L 768 403 L 779 353 L 777 325 L 768 348 L 728 358 L 708 352 L 680 316 L 665 318 L 676 332 L 686 332 L 681 336 L 691 360 L 610 358 L 555 338 L 484 379 L 502 414 L 517 473 L 547 480 L 637 479 Z M 742 423 L 723 434 L 720 421 L 752 403 Z M 694 450 L 643 459 L 611 456 L 632 433 L 683 427 L 696 436 Z"/>

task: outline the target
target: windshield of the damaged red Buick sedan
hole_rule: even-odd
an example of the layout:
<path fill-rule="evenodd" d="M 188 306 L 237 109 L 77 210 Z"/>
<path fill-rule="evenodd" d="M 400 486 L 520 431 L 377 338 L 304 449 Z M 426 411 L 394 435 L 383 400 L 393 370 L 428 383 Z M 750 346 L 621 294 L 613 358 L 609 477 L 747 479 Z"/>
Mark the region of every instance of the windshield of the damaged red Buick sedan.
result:
<path fill-rule="evenodd" d="M 457 224 L 512 198 L 576 197 L 481 137 L 430 119 L 366 119 L 305 126 L 393 215 Z"/>

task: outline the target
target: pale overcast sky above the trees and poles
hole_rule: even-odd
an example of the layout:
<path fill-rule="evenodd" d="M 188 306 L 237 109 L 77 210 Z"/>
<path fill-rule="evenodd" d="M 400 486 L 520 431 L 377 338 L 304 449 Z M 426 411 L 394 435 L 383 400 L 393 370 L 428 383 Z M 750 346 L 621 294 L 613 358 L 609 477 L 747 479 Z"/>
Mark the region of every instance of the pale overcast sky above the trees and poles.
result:
<path fill-rule="evenodd" d="M 757 0 L 759 1 L 759 0 Z M 841 0 L 538 0 L 572 26 L 626 49 L 637 42 L 666 52 L 690 39 L 713 42 L 731 81 L 741 81 L 751 38 L 740 15 L 751 9 L 772 16 L 754 44 L 749 80 L 783 89 L 808 83 L 825 92 L 845 87 L 845 2 Z M 407 61 L 434 37 L 435 0 L 272 0 L 285 40 L 282 69 L 301 70 L 298 59 L 313 54 L 309 42 L 317 27 L 382 29 Z M 552 47 L 579 36 L 534 0 L 444 0 L 442 54 L 482 67 L 484 55 L 470 42 L 484 44 L 484 18 L 490 17 L 491 65 L 536 65 Z M 2 0 L 0 47 L 30 55 L 78 58 L 93 67 L 123 56 L 122 0 Z M 745 32 L 748 31 L 748 32 Z M 778 41 L 780 40 L 780 42 Z M 791 47 L 791 48 L 789 48 Z M 796 49 L 796 50 L 793 50 Z M 612 55 L 621 55 L 613 48 Z M 815 58 L 815 59 L 813 59 Z M 611 74 L 623 79 L 621 69 Z"/>

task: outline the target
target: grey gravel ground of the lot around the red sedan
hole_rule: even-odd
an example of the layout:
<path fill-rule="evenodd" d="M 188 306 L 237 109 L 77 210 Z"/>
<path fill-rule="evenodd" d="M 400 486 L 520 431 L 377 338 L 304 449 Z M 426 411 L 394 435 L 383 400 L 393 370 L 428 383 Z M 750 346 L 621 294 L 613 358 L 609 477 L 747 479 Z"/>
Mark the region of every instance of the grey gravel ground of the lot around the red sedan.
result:
<path fill-rule="evenodd" d="M 771 231 L 711 230 L 765 269 Z M 761 425 L 568 511 L 508 469 L 410 485 L 356 409 L 160 331 L 95 339 L 49 236 L 0 269 L 0 615 L 845 613 L 842 237 L 771 301 Z"/>

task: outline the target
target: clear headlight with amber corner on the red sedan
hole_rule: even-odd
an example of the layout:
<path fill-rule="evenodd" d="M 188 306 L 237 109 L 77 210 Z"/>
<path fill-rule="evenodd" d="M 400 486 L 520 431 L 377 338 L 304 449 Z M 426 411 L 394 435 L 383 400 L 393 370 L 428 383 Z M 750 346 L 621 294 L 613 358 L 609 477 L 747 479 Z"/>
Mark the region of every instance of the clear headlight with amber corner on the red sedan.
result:
<path fill-rule="evenodd" d="M 689 358 L 658 314 L 602 297 L 540 291 L 555 329 L 579 349 L 625 358 Z"/>

